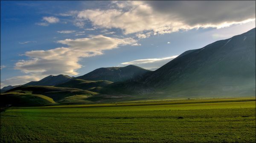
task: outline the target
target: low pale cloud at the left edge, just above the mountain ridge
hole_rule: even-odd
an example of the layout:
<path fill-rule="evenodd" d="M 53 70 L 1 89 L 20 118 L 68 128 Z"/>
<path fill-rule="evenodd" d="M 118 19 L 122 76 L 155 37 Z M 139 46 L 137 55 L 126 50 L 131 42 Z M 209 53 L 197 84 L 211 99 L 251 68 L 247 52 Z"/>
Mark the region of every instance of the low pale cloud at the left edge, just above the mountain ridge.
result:
<path fill-rule="evenodd" d="M 9 79 L 5 79 L 1 81 L 1 88 L 8 86 L 8 85 L 21 85 L 26 84 L 30 81 L 39 81 L 40 79 L 44 78 L 44 76 L 40 75 L 31 75 L 31 76 L 14 76 Z"/>

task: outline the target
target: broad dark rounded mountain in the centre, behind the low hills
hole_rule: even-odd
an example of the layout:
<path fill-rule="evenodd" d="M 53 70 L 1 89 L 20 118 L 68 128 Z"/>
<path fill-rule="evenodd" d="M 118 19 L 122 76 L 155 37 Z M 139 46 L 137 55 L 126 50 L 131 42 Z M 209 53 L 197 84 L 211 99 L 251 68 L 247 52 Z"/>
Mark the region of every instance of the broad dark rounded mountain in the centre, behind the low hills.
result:
<path fill-rule="evenodd" d="M 88 81 L 107 80 L 112 82 L 127 81 L 149 72 L 151 71 L 135 65 L 128 65 L 126 67 L 102 67 L 74 79 L 83 79 Z"/>

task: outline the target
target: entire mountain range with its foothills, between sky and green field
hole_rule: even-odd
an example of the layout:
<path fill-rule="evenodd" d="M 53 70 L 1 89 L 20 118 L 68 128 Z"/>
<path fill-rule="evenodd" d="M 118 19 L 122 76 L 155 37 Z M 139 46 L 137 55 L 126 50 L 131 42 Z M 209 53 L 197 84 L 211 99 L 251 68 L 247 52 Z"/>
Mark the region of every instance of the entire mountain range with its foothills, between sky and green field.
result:
<path fill-rule="evenodd" d="M 2 91 L 8 91 L 2 93 L 1 103 L 27 105 L 31 103 L 28 100 L 33 101 L 35 97 L 39 105 L 40 101 L 81 104 L 255 96 L 255 52 L 253 28 L 203 48 L 188 50 L 154 71 L 134 65 L 102 67 L 74 78 L 48 76 L 15 88 L 4 87 Z"/>

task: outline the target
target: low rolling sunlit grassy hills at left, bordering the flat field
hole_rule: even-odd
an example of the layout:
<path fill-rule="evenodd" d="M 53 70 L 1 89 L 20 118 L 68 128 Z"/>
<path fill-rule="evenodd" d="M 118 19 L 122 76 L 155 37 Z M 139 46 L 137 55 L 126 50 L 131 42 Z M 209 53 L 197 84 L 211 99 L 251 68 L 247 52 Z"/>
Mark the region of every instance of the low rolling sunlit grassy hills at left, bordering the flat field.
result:
<path fill-rule="evenodd" d="M 14 94 L 15 93 L 15 94 Z M 52 86 L 21 86 L 16 87 L 14 89 L 9 90 L 7 93 L 2 93 L 0 95 L 0 98 L 8 98 L 8 102 L 3 102 L 12 104 L 12 105 L 18 105 L 16 103 L 20 102 L 20 98 L 22 98 L 22 103 L 26 102 L 34 102 L 30 100 L 30 98 L 24 98 L 24 94 L 26 93 L 26 96 L 38 96 L 42 95 L 42 97 L 51 99 L 52 102 L 50 103 L 66 103 L 66 104 L 75 104 L 78 103 L 91 103 L 91 101 L 87 100 L 88 97 L 99 95 L 99 93 L 94 93 L 92 91 L 88 90 L 81 90 L 77 88 L 66 88 L 66 87 L 52 87 Z M 29 93 L 29 94 L 28 94 Z M 15 98 L 12 98 L 15 96 Z M 81 97 L 83 101 L 81 101 Z M 12 99 L 12 100 L 9 100 Z M 6 100 L 5 100 L 6 101 Z M 41 104 L 50 104 L 48 102 L 42 101 Z M 41 105 L 41 104 L 35 104 L 35 105 Z M 20 104 L 23 105 L 23 104 Z M 27 104 L 30 105 L 30 104 Z M 31 103 L 31 105 L 34 105 Z"/>

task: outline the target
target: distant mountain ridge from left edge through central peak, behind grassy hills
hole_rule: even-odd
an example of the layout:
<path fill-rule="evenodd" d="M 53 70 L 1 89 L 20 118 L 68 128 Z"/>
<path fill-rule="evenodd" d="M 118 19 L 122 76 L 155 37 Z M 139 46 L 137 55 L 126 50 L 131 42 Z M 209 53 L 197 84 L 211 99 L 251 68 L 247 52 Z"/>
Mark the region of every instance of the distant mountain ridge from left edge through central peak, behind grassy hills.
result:
<path fill-rule="evenodd" d="M 151 70 L 145 70 L 141 67 L 135 65 L 128 65 L 126 67 L 101 67 L 96 70 L 93 70 L 90 73 L 87 73 L 83 76 L 78 77 L 70 77 L 67 75 L 60 74 L 58 76 L 47 76 L 40 81 L 30 81 L 29 83 L 23 85 L 15 85 L 15 86 L 6 86 L 1 89 L 1 93 L 6 92 L 7 90 L 11 90 L 15 87 L 20 86 L 55 86 L 58 84 L 62 84 L 64 82 L 70 81 L 71 79 L 83 79 L 88 81 L 95 80 L 107 80 L 107 81 L 127 81 L 134 79 L 136 77 L 140 77 L 145 73 L 151 72 Z M 61 86 L 61 85 L 60 85 Z"/>

